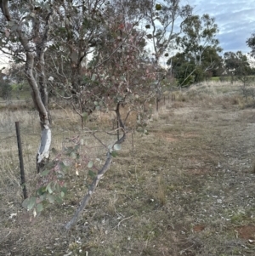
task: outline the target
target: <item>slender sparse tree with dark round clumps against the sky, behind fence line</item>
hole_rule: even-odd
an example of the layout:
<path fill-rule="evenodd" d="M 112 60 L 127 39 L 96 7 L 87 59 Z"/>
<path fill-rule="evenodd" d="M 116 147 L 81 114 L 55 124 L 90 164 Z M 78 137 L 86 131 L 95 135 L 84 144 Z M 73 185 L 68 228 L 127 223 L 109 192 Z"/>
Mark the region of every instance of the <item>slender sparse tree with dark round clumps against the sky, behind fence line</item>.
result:
<path fill-rule="evenodd" d="M 182 5 L 180 0 L 144 1 L 146 6 L 144 18 L 147 22 L 146 37 L 152 43 L 151 55 L 155 69 L 159 68 L 162 57 L 169 56 L 175 48 L 175 40 L 181 32 L 178 22 L 183 22 L 192 14 L 193 8 Z M 167 71 L 156 70 L 156 103 L 161 99 L 161 82 L 167 76 Z"/>

